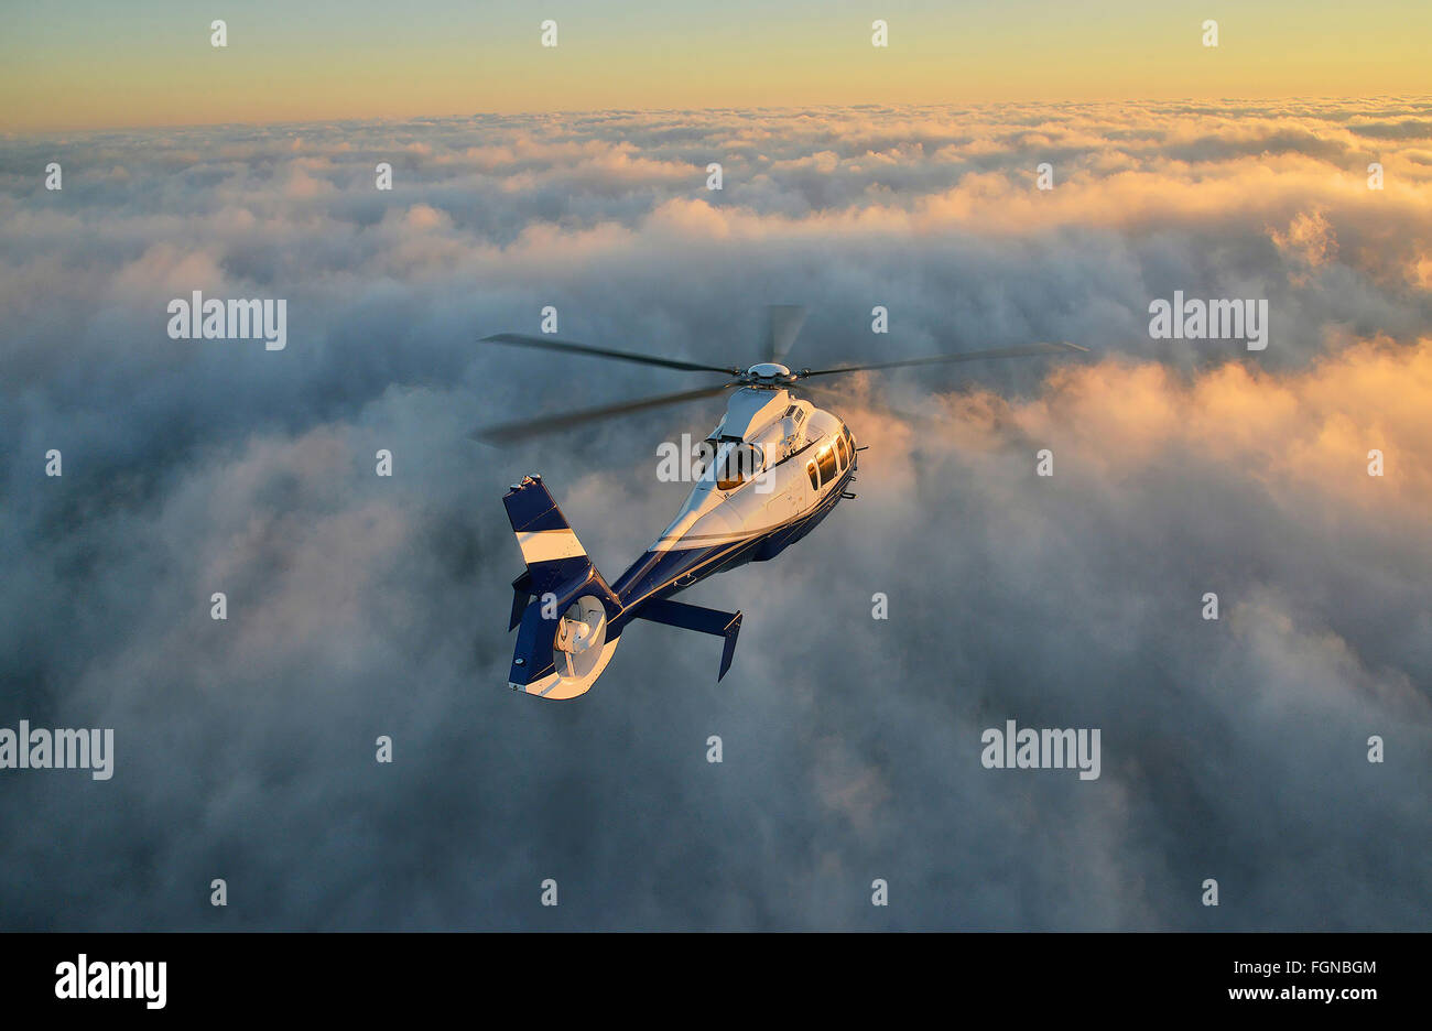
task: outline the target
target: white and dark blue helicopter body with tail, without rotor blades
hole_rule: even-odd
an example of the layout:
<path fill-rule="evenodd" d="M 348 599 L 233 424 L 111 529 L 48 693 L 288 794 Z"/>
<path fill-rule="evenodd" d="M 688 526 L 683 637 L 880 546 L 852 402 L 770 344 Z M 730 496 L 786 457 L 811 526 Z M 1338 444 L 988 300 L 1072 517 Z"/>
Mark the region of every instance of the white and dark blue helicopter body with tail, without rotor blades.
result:
<path fill-rule="evenodd" d="M 637 619 L 723 637 L 725 676 L 740 613 L 672 596 L 716 573 L 775 558 L 842 498 L 855 497 L 846 491 L 856 468 L 849 428 L 782 385 L 732 394 L 705 444 L 706 461 L 686 504 L 611 584 L 541 477 L 526 477 L 503 498 L 527 563 L 513 581 L 511 627 L 518 633 L 508 684 L 514 690 L 547 699 L 586 693 L 621 631 Z"/>

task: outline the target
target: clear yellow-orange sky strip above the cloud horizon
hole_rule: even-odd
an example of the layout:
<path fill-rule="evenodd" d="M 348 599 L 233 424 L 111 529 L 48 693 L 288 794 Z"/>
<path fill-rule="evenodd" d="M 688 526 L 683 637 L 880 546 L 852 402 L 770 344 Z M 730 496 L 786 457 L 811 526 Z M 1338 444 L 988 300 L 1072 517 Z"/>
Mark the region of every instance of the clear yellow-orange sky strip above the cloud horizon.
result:
<path fill-rule="evenodd" d="M 228 46 L 211 46 L 223 19 Z M 557 46 L 540 43 L 557 21 Z M 871 24 L 889 46 L 871 46 Z M 1219 23 L 1219 46 L 1203 23 Z M 26 4 L 0 132 L 601 109 L 1408 96 L 1421 0 Z"/>

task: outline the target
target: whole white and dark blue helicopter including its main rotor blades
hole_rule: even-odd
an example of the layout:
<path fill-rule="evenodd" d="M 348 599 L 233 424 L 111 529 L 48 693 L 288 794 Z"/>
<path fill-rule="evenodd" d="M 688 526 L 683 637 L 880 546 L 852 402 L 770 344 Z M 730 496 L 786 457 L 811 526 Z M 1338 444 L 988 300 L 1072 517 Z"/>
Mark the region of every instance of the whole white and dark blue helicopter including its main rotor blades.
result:
<path fill-rule="evenodd" d="M 551 337 L 494 334 L 480 344 L 556 351 L 569 357 L 634 362 L 682 372 L 717 374 L 695 389 L 487 427 L 473 435 L 505 444 L 540 434 L 732 391 L 726 412 L 702 445 L 686 504 L 652 546 L 613 581 L 597 570 L 540 474 L 524 475 L 503 495 L 526 570 L 513 580 L 508 633 L 517 644 L 507 684 L 548 700 L 579 697 L 607 669 L 623 630 L 634 620 L 723 640 L 720 682 L 730 670 L 742 613 L 674 601 L 672 596 L 750 561 L 769 561 L 811 533 L 843 500 L 865 451 L 835 412 L 800 394 L 806 381 L 849 372 L 987 358 L 1081 352 L 1077 344 L 964 351 L 825 369 L 792 369 L 785 358 L 805 322 L 799 305 L 772 305 L 763 359 L 748 368 L 705 365 L 659 355 L 590 347 Z"/>

